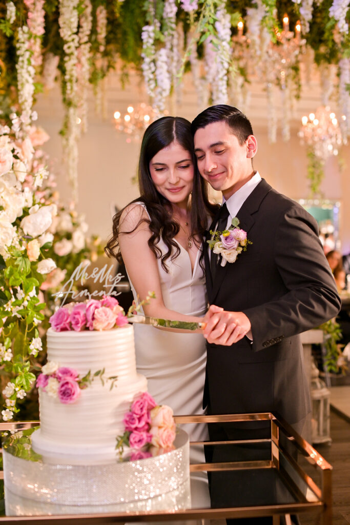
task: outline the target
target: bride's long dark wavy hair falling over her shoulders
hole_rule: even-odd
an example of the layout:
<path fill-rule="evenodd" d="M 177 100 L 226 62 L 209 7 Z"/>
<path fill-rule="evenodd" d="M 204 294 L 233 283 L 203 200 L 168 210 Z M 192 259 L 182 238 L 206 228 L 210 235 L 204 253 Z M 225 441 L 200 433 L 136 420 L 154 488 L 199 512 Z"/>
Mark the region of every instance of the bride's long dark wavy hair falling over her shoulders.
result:
<path fill-rule="evenodd" d="M 157 259 L 161 258 L 162 267 L 165 271 L 168 271 L 166 260 L 169 258 L 173 260 L 180 253 L 178 244 L 174 240 L 180 227 L 172 218 L 171 203 L 156 190 L 151 178 L 150 162 L 158 151 L 166 148 L 166 146 L 174 141 L 178 142 L 184 150 L 188 151 L 193 160 L 194 178 L 190 206 L 190 237 L 196 243 L 196 246 L 199 247 L 200 241 L 198 241 L 198 238 L 202 237 L 205 233 L 208 215 L 213 216 L 217 209 L 217 205 L 209 202 L 207 183 L 199 175 L 197 170 L 190 122 L 182 117 L 162 117 L 152 122 L 152 124 L 146 129 L 141 144 L 138 171 L 140 197 L 132 201 L 132 203 L 143 202 L 146 205 L 147 212 L 150 215 L 150 220 L 144 218 L 140 219 L 140 222 L 135 226 L 132 232 L 134 232 L 142 222 L 149 224 L 152 232 L 148 241 L 149 247 Z M 119 231 L 120 217 L 124 209 L 125 208 L 114 215 L 112 236 L 108 240 L 107 246 L 104 248 L 105 253 L 109 257 L 116 257 L 119 262 L 122 260 L 118 241 L 119 233 L 132 233 Z M 157 243 L 160 241 L 161 237 L 167 247 L 167 252 L 166 254 L 163 254 L 163 256 L 161 250 L 157 247 Z"/>

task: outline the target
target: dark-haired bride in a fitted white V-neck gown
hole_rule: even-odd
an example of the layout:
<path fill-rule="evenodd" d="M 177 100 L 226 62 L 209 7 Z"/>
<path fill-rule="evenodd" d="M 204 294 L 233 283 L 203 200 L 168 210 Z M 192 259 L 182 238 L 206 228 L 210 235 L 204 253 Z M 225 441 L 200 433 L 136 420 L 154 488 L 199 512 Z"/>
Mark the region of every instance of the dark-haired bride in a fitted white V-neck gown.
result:
<path fill-rule="evenodd" d="M 106 250 L 122 257 L 135 299 L 155 292 L 143 307 L 146 316 L 201 321 L 206 312 L 201 239 L 216 206 L 209 203 L 197 172 L 186 119 L 163 117 L 146 129 L 139 187 L 141 196 L 114 216 Z M 203 414 L 203 335 L 140 324 L 134 325 L 134 334 L 137 371 L 147 377 L 156 402 L 171 406 L 176 415 Z M 207 438 L 206 425 L 185 429 L 192 441 Z M 194 454 L 191 460 L 201 461 Z"/>

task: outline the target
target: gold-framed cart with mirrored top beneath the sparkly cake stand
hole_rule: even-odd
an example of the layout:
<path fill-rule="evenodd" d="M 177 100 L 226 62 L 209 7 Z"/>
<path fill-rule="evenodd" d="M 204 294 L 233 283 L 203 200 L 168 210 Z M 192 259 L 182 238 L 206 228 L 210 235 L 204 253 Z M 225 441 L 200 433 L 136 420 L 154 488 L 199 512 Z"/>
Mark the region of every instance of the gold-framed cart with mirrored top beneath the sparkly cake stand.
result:
<path fill-rule="evenodd" d="M 228 429 L 228 435 L 232 428 L 237 427 L 239 433 L 245 436 L 226 441 L 190 443 L 190 498 L 186 484 L 179 484 L 171 495 L 170 491 L 163 490 L 162 495 L 157 496 L 158 500 L 163 496 L 160 506 L 150 500 L 138 509 L 131 505 L 121 510 L 118 505 L 89 505 L 89 501 L 80 506 L 52 501 L 44 505 L 45 501 L 25 498 L 6 490 L 5 486 L 0 522 L 43 524 L 45 520 L 50 520 L 72 525 L 97 525 L 272 516 L 273 525 L 277 525 L 281 522 L 281 516 L 284 516 L 283 522 L 289 523 L 291 514 L 301 516 L 309 513 L 315 523 L 332 523 L 332 467 L 282 419 L 263 413 L 176 416 L 175 421 L 179 428 L 189 423 L 219 425 Z M 45 460 L 35 455 L 30 445 L 31 430 L 38 424 L 0 423 L 0 431 L 7 433 L 2 438 L 5 454 L 14 456 L 16 476 L 20 476 L 21 468 L 28 470 L 28 462 L 32 466 L 36 462 L 45 464 Z M 261 436 L 261 428 L 266 436 L 247 439 L 247 435 Z M 8 446 L 9 442 L 16 442 L 18 432 L 20 436 L 25 435 L 25 439 L 20 441 L 19 447 Z M 179 449 L 183 443 L 181 434 L 179 432 Z M 0 474 L 4 478 L 3 472 Z M 195 492 L 198 486 L 201 489 L 206 486 L 207 477 L 210 497 L 206 499 L 198 497 Z"/>

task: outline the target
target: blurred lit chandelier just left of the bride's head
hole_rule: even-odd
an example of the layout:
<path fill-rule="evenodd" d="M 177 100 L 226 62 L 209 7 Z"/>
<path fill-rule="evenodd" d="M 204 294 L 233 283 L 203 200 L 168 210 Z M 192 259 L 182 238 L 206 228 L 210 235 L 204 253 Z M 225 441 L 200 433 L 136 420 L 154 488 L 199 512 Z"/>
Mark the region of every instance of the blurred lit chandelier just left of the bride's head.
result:
<path fill-rule="evenodd" d="M 115 111 L 113 114 L 116 131 L 126 134 L 126 142 L 137 142 L 142 138 L 145 129 L 157 118 L 159 112 L 145 102 L 137 106 L 128 106 L 126 113 Z"/>

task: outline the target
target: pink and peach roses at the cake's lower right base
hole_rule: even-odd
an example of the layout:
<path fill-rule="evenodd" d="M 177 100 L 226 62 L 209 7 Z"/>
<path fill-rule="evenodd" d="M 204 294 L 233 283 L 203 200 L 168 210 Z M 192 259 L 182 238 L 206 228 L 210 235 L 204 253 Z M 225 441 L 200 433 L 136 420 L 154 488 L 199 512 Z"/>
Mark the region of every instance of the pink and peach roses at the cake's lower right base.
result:
<path fill-rule="evenodd" d="M 153 397 L 144 392 L 135 399 L 123 419 L 125 432 L 116 438 L 120 457 L 124 445 L 130 447 L 128 459 L 144 459 L 174 450 L 176 426 L 172 409 L 157 405 Z"/>

